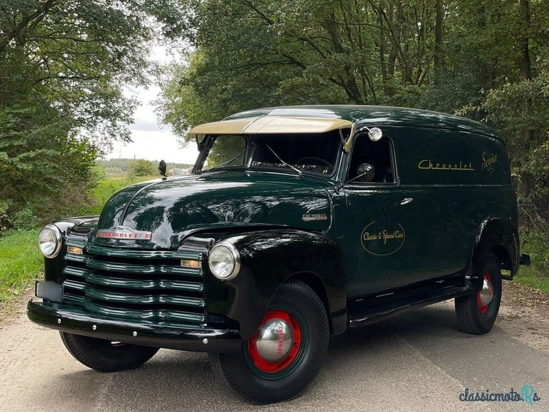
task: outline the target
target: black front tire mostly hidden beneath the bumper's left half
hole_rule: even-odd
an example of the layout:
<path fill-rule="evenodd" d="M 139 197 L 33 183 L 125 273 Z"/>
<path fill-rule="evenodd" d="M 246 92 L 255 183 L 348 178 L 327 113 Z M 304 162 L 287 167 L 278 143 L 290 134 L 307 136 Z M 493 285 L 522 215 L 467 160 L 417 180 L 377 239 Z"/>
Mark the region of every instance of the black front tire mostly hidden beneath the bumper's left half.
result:
<path fill-rule="evenodd" d="M 158 347 L 112 343 L 67 332 L 59 332 L 69 353 L 80 363 L 100 372 L 135 369 L 147 362 Z"/>

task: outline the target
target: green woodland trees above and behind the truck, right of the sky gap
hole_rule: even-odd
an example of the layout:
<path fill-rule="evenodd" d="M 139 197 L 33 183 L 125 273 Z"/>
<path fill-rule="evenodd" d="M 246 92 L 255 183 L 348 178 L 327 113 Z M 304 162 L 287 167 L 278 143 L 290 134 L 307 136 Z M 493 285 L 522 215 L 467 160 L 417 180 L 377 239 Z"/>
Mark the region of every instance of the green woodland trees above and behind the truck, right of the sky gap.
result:
<path fill-rule="evenodd" d="M 182 0 L 159 111 L 191 126 L 281 104 L 459 113 L 504 135 L 522 225 L 549 219 L 549 1 Z M 530 217 L 531 216 L 531 217 Z"/>

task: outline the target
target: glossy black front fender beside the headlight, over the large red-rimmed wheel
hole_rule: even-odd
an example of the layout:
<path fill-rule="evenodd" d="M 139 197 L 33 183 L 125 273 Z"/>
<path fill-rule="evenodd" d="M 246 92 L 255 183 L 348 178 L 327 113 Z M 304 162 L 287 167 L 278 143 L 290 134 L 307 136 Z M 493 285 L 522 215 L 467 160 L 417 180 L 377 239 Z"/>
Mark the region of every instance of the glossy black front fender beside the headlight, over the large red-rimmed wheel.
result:
<path fill-rule="evenodd" d="M 239 274 L 221 281 L 205 264 L 205 297 L 209 314 L 240 324 L 243 339 L 259 328 L 277 288 L 292 276 L 313 277 L 324 288 L 334 334 L 347 325 L 347 277 L 342 250 L 322 233 L 293 229 L 254 231 L 224 238 L 240 253 Z M 305 276 L 306 275 L 306 276 Z M 317 290 L 318 293 L 318 290 Z M 322 295 L 322 293 L 320 293 Z"/>

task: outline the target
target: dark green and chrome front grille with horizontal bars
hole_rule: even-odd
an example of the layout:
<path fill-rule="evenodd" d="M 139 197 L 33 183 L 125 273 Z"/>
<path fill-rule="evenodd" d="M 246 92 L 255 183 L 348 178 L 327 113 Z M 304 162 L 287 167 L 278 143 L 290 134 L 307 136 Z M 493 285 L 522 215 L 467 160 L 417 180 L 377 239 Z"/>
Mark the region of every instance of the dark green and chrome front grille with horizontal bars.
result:
<path fill-rule="evenodd" d="M 84 254 L 65 255 L 65 304 L 128 321 L 205 323 L 202 268 L 180 266 L 181 260 L 202 261 L 201 253 L 115 249 L 74 239 L 67 246 Z"/>

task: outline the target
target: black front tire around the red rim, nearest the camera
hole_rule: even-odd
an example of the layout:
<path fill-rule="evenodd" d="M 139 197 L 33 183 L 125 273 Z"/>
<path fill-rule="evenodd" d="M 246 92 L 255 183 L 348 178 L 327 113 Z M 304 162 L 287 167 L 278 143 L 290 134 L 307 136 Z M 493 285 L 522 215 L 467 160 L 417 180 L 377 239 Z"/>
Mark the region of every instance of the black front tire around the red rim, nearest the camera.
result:
<path fill-rule="evenodd" d="M 233 354 L 209 354 L 215 376 L 243 400 L 254 404 L 280 402 L 297 396 L 320 370 L 328 349 L 329 324 L 322 301 L 302 282 L 280 286 L 269 310 L 285 310 L 299 321 L 299 355 L 278 372 L 259 370 L 248 352 L 248 343 Z"/>

